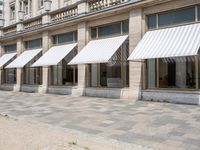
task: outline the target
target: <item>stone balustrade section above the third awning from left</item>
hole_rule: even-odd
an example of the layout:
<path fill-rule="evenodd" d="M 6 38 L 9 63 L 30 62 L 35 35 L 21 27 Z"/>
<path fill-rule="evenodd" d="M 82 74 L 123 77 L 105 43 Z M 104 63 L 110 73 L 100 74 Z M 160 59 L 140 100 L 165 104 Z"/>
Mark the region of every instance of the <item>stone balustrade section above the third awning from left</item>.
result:
<path fill-rule="evenodd" d="M 77 6 L 51 15 L 51 22 L 59 22 L 78 15 Z"/>

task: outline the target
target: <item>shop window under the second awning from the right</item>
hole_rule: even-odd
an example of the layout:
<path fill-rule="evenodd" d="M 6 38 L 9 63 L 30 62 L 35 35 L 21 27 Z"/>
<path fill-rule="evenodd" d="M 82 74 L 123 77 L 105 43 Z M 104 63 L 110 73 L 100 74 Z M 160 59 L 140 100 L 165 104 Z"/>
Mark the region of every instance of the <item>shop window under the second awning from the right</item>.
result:
<path fill-rule="evenodd" d="M 129 55 L 126 41 L 112 56 L 109 63 L 90 64 L 90 86 L 123 88 L 129 86 Z"/>

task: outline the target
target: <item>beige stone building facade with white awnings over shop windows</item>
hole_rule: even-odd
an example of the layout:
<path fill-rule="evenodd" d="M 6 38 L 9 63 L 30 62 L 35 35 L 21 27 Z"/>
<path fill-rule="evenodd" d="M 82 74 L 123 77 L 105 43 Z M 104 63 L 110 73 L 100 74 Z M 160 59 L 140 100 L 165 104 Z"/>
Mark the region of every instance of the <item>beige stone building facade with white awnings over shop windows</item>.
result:
<path fill-rule="evenodd" d="M 0 89 L 199 104 L 199 6 L 0 1 Z"/>

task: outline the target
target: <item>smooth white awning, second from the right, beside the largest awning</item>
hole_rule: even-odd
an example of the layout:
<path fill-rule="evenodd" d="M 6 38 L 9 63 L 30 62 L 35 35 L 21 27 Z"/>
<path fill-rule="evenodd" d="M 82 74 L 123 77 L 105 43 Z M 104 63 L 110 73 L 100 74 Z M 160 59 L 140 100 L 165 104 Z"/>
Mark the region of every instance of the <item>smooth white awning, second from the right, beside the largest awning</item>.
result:
<path fill-rule="evenodd" d="M 90 41 L 69 64 L 107 63 L 127 37 L 126 35 Z"/>

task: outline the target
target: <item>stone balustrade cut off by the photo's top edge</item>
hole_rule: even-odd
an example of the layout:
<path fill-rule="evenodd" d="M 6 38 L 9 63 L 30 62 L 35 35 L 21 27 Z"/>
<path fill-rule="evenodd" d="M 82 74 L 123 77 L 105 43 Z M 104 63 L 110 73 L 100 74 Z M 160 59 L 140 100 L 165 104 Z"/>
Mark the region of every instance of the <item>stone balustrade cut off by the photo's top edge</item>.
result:
<path fill-rule="evenodd" d="M 119 5 L 128 0 L 89 0 L 89 10 L 90 11 L 98 11 L 110 6 Z"/>

